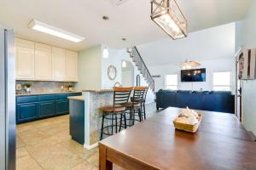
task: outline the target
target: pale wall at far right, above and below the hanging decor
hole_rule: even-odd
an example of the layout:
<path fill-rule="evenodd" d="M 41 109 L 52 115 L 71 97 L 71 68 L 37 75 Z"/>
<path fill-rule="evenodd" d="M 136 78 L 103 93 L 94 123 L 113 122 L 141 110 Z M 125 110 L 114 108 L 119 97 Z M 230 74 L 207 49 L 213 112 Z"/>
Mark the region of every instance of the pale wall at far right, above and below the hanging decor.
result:
<path fill-rule="evenodd" d="M 245 20 L 236 23 L 236 48 L 256 48 L 256 1 L 252 1 Z M 256 80 L 242 82 L 243 124 L 256 134 Z"/>

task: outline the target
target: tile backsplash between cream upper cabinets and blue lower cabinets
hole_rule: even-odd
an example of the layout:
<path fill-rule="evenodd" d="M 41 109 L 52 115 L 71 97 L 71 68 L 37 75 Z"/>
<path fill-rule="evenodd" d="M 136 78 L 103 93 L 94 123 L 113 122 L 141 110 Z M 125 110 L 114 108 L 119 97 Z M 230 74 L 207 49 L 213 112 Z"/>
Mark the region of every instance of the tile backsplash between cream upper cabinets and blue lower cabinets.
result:
<path fill-rule="evenodd" d="M 21 94 L 26 93 L 25 91 L 25 83 L 31 82 L 31 93 L 55 93 L 55 92 L 63 92 L 68 90 L 68 86 L 74 87 L 74 82 L 34 82 L 34 81 L 16 81 L 16 84 L 22 85 L 22 90 L 20 91 Z M 61 89 L 61 86 L 64 88 Z"/>

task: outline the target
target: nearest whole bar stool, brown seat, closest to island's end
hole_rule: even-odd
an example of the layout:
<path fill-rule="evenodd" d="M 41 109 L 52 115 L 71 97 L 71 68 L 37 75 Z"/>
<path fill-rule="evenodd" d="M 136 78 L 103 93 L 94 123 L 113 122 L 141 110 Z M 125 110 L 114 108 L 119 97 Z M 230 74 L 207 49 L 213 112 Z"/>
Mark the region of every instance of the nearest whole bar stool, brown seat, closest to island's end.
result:
<path fill-rule="evenodd" d="M 103 134 L 105 135 L 113 135 L 113 127 L 115 127 L 115 133 L 118 133 L 118 115 L 121 116 L 121 119 L 123 116 L 125 116 L 126 108 L 124 106 L 125 103 L 128 102 L 131 90 L 133 88 L 113 88 L 113 105 L 105 105 L 102 106 L 102 130 L 101 130 L 101 140 Z M 104 126 L 104 121 L 108 120 L 111 121 L 110 125 Z M 115 121 L 115 124 L 113 123 Z M 109 130 L 109 127 L 111 127 L 111 133 L 104 132 L 104 129 Z M 126 127 L 126 117 L 125 117 L 125 127 Z M 120 129 L 119 129 L 120 131 Z"/>

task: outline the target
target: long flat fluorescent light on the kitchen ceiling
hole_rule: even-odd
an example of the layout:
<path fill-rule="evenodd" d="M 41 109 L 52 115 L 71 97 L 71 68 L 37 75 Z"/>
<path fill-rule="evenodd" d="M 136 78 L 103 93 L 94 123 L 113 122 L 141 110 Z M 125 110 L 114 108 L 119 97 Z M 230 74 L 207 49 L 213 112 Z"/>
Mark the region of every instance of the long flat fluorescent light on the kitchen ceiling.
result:
<path fill-rule="evenodd" d="M 67 39 L 72 42 L 81 42 L 84 40 L 84 37 L 80 37 L 73 34 L 72 32 L 56 28 L 55 26 L 49 26 L 48 24 L 45 24 L 44 22 L 38 20 L 32 20 L 29 23 L 28 27 L 32 28 L 33 30 L 41 31 L 55 37 Z"/>

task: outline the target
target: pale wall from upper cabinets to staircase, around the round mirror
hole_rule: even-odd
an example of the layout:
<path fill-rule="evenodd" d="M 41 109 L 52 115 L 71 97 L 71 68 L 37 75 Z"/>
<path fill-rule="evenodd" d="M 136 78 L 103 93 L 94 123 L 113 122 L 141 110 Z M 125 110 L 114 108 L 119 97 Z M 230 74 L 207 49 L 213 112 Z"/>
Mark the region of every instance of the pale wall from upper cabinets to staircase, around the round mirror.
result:
<path fill-rule="evenodd" d="M 109 53 L 108 59 L 104 59 L 102 56 L 103 49 L 106 47 Z M 133 82 L 136 83 L 137 74 L 140 74 L 140 72 L 125 48 L 118 50 L 102 44 L 79 51 L 79 82 L 76 83 L 75 88 L 79 90 L 113 88 L 115 82 L 122 82 L 122 60 L 130 61 L 133 65 Z M 114 80 L 108 78 L 109 65 L 114 65 L 117 69 L 117 77 Z M 142 75 L 141 85 L 148 86 Z M 154 93 L 151 90 L 148 90 L 146 102 L 154 102 Z"/>

